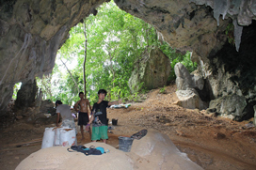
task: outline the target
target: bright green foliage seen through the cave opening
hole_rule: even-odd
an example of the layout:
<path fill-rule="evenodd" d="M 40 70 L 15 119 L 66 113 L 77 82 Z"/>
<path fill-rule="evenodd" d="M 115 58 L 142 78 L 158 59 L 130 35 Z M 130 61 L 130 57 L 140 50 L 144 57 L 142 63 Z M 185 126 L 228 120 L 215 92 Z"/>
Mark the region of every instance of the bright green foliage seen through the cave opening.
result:
<path fill-rule="evenodd" d="M 134 63 L 145 49 L 160 47 L 173 62 L 190 66 L 185 57 L 176 54 L 168 43 L 161 44 L 152 25 L 120 10 L 113 1 L 97 8 L 96 16 L 90 15 L 86 22 L 87 46 L 87 98 L 98 100 L 99 89 L 106 89 L 106 100 L 134 99 L 139 95 L 131 94 L 128 81 L 134 69 Z M 70 31 L 67 39 L 57 53 L 56 67 L 49 77 L 38 80 L 45 97 L 50 100 L 62 100 L 73 104 L 79 100 L 78 91 L 83 91 L 83 63 L 85 57 L 84 24 L 78 23 Z M 70 73 L 63 67 L 65 61 Z M 64 69 L 63 69 L 64 68 Z M 140 92 L 146 92 L 143 83 L 138 85 Z"/>

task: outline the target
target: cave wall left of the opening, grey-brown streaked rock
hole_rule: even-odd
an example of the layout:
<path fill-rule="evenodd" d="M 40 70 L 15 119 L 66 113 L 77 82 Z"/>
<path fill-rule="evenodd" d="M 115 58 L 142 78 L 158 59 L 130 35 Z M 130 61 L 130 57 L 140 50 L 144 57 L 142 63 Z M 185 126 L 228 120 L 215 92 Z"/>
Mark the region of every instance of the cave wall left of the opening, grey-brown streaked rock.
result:
<path fill-rule="evenodd" d="M 104 0 L 8 0 L 0 2 L 0 112 L 13 85 L 50 73 L 69 31 Z"/>

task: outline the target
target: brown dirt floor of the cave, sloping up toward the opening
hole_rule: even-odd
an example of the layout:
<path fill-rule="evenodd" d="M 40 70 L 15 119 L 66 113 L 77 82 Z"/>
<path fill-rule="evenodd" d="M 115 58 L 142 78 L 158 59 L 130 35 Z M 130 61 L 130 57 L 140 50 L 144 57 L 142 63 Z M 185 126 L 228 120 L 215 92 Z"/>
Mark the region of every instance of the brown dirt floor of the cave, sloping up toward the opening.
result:
<path fill-rule="evenodd" d="M 131 136 L 142 129 L 154 129 L 165 133 L 172 142 L 193 162 L 209 170 L 255 170 L 256 129 L 247 128 L 248 121 L 236 122 L 223 117 L 205 115 L 204 111 L 189 110 L 177 106 L 176 86 L 166 87 L 166 94 L 155 89 L 147 94 L 147 100 L 132 103 L 127 109 L 107 110 L 109 130 L 107 143 L 118 147 L 119 136 Z M 111 125 L 118 119 L 117 126 Z M 46 127 L 35 127 L 22 121 L 1 131 L 0 167 L 2 170 L 15 167 L 28 155 L 41 147 Z M 78 145 L 90 142 L 77 135 Z"/>

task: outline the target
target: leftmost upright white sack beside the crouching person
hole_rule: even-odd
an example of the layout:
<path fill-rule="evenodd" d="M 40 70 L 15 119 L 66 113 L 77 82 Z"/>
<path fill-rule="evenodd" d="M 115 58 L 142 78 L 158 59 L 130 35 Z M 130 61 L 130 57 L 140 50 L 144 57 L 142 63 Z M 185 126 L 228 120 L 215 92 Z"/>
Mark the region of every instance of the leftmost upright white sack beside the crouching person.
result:
<path fill-rule="evenodd" d="M 55 131 L 53 130 L 54 128 L 45 128 L 43 132 L 41 148 L 54 147 Z"/>

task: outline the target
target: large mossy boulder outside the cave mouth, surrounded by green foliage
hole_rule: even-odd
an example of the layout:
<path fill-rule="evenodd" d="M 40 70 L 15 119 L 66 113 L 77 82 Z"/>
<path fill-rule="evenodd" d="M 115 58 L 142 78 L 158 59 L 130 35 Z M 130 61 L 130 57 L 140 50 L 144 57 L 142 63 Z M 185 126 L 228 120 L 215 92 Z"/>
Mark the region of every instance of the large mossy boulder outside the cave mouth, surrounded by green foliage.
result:
<path fill-rule="evenodd" d="M 137 91 L 143 84 L 148 90 L 167 85 L 170 71 L 170 60 L 160 49 L 147 50 L 137 59 L 135 68 L 129 79 L 129 87 Z"/>

